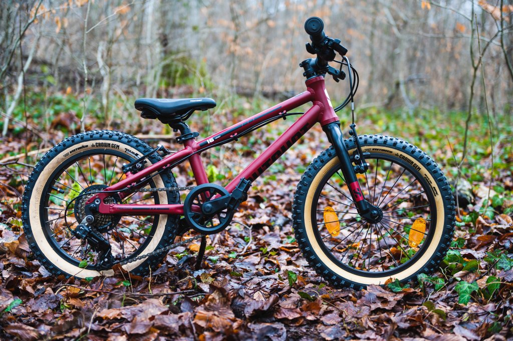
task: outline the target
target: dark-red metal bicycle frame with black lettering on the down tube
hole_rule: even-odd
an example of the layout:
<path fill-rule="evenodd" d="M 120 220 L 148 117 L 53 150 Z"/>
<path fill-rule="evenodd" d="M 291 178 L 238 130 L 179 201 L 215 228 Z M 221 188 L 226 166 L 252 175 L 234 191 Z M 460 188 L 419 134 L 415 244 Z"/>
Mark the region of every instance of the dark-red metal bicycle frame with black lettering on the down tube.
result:
<path fill-rule="evenodd" d="M 91 197 L 86 204 L 90 204 L 96 198 L 101 199 L 98 211 L 103 214 L 127 214 L 137 212 L 138 214 L 154 215 L 159 214 L 183 214 L 183 205 L 132 205 L 132 204 L 105 204 L 103 199 L 109 195 L 109 191 L 120 191 L 123 198 L 123 191 L 126 188 L 139 184 L 141 180 L 149 178 L 152 173 L 174 167 L 186 159 L 189 160 L 196 185 L 208 183 L 207 172 L 201 161 L 201 153 L 211 147 L 219 146 L 230 142 L 233 137 L 256 127 L 269 119 L 285 117 L 285 114 L 303 104 L 312 102 L 312 107 L 308 109 L 301 117 L 294 122 L 276 141 L 274 141 L 261 155 L 247 166 L 238 176 L 236 176 L 225 188 L 231 193 L 239 184 L 241 178 L 253 182 L 270 165 L 272 165 L 280 156 L 285 153 L 298 139 L 301 138 L 315 123 L 322 127 L 330 123 L 339 121 L 334 112 L 331 101 L 326 90 L 323 76 L 317 76 L 308 79 L 306 82 L 307 91 L 300 93 L 286 101 L 275 105 L 272 108 L 264 110 L 244 121 L 234 124 L 218 133 L 215 133 L 200 142 L 194 139 L 188 139 L 184 142 L 184 149 L 169 156 L 161 161 L 144 168 L 143 170 L 127 175 L 127 178 L 121 180 L 105 189 L 106 193 L 98 193 Z"/>

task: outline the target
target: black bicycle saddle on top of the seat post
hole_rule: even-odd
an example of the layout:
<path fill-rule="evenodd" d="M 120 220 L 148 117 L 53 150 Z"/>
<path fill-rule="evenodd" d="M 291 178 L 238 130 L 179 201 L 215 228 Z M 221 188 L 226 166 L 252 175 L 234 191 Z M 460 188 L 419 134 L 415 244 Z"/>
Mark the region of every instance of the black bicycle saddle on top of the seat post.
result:
<path fill-rule="evenodd" d="M 158 118 L 162 123 L 173 124 L 185 121 L 194 110 L 207 110 L 215 107 L 212 98 L 139 98 L 135 109 L 143 118 Z"/>

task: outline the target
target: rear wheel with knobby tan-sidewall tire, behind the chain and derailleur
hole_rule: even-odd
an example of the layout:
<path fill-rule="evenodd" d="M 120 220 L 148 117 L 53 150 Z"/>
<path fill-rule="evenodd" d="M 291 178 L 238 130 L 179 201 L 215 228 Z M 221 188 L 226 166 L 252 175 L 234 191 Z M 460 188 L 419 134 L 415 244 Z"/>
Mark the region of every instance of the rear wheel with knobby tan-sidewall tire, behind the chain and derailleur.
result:
<path fill-rule="evenodd" d="M 22 219 L 29 245 L 37 259 L 56 275 L 80 278 L 112 275 L 99 271 L 97 252 L 87 240 L 71 232 L 85 217 L 84 206 L 93 193 L 126 178 L 124 163 L 151 151 L 139 139 L 113 131 L 91 131 L 65 139 L 52 148 L 29 177 L 23 196 Z M 159 161 L 153 154 L 148 164 Z M 143 188 L 175 187 L 171 171 L 162 172 Z M 114 193 L 106 200 L 123 204 L 178 204 L 176 192 L 135 192 L 121 198 Z M 115 260 L 152 252 L 172 243 L 176 217 L 95 214 L 94 229 L 102 233 Z M 164 254 L 129 263 L 123 268 L 145 275 Z"/>

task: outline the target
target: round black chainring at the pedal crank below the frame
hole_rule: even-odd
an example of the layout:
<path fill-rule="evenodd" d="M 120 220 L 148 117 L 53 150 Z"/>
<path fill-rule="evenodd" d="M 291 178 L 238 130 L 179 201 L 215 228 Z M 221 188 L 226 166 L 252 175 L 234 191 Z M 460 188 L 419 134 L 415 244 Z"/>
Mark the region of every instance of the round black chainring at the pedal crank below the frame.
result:
<path fill-rule="evenodd" d="M 225 208 L 208 214 L 202 208 L 210 200 L 229 194 L 224 187 L 216 184 L 203 184 L 194 187 L 184 201 L 185 221 L 192 229 L 201 234 L 215 234 L 223 231 L 230 225 L 233 211 Z"/>

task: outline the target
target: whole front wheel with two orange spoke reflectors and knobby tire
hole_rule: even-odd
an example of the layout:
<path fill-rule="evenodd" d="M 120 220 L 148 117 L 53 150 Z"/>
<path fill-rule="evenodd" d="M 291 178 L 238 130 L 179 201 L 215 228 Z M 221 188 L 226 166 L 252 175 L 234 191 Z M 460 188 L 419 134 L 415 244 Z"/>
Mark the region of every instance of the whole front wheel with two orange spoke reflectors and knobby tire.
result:
<path fill-rule="evenodd" d="M 294 232 L 308 263 L 329 283 L 354 289 L 435 271 L 455 228 L 447 179 L 428 155 L 398 138 L 359 140 L 369 164 L 359 183 L 382 214 L 377 222 L 358 214 L 336 152 L 325 150 L 294 196 Z M 345 144 L 352 155 L 354 141 Z"/>

